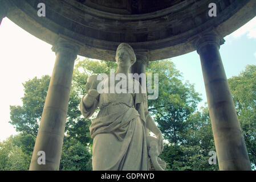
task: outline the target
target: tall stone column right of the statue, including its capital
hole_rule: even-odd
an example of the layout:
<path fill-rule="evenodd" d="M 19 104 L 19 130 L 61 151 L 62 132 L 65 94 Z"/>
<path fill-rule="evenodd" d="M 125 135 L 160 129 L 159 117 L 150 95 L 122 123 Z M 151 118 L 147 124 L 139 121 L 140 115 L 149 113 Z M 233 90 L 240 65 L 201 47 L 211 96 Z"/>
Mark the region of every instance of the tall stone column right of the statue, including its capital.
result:
<path fill-rule="evenodd" d="M 220 55 L 220 38 L 204 35 L 197 42 L 220 170 L 251 170 L 233 98 Z"/>

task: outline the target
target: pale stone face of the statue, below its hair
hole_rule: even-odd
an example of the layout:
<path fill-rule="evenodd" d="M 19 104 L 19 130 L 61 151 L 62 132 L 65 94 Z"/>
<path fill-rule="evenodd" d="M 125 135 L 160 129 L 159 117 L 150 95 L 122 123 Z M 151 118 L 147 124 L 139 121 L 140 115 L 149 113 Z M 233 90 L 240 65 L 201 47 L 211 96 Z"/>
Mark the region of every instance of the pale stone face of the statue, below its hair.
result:
<path fill-rule="evenodd" d="M 126 48 L 121 47 L 116 51 L 116 62 L 119 67 L 131 67 L 132 60 Z"/>

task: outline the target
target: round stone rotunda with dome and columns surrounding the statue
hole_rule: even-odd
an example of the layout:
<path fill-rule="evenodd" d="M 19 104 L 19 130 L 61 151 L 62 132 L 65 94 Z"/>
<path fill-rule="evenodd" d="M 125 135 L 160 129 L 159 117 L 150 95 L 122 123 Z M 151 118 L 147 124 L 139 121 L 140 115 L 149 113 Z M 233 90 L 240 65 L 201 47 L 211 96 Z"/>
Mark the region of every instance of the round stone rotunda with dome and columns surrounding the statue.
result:
<path fill-rule="evenodd" d="M 39 3 L 45 16 L 38 16 Z M 122 42 L 135 50 L 132 72 L 139 74 L 148 61 L 197 50 L 220 170 L 250 170 L 219 49 L 255 15 L 255 0 L 0 0 L 0 21 L 7 16 L 56 53 L 30 170 L 59 169 L 76 56 L 115 61 Z M 46 153 L 45 165 L 37 163 L 38 151 Z"/>

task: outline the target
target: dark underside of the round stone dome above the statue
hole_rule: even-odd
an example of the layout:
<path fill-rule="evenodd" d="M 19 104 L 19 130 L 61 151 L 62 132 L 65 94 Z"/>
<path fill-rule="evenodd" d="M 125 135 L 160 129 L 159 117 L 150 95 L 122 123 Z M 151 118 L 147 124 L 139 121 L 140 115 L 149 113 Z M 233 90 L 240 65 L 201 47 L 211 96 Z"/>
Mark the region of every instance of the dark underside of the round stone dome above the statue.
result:
<path fill-rule="evenodd" d="M 202 34 L 224 38 L 256 15 L 255 0 L 1 1 L 7 17 L 39 39 L 53 45 L 61 36 L 80 46 L 79 55 L 110 61 L 121 42 L 150 61 L 182 55 Z M 45 17 L 37 15 L 38 3 L 45 3 Z"/>

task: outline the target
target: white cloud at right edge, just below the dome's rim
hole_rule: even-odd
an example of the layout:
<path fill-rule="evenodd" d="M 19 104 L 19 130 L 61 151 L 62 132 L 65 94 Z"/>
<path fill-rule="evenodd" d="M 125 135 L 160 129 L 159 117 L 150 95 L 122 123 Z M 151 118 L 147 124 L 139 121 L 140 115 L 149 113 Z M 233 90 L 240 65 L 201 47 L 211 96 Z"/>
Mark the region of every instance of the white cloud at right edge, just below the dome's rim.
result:
<path fill-rule="evenodd" d="M 256 38 L 256 16 L 241 28 L 238 28 L 236 31 L 234 31 L 231 35 L 234 38 L 239 38 L 244 34 L 246 34 L 248 38 Z"/>

